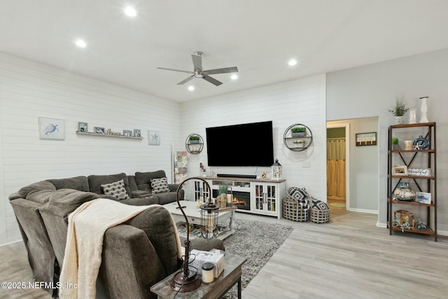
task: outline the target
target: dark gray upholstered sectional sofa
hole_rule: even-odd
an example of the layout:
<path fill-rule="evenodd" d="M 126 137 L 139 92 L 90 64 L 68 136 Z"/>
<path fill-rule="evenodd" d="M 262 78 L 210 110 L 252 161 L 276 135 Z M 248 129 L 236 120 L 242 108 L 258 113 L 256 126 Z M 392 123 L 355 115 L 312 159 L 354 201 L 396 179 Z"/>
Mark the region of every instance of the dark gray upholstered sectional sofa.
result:
<path fill-rule="evenodd" d="M 84 202 L 96 198 L 117 200 L 105 195 L 102 185 L 123 179 L 129 199 L 123 204 L 167 204 L 176 201 L 178 185 L 153 194 L 151 180 L 166 177 L 165 171 L 136 172 L 48 179 L 25 186 L 9 196 L 28 252 L 36 281 L 55 282 L 64 259 L 68 216 Z M 183 200 L 179 190 L 179 200 Z M 169 212 L 163 207 L 149 209 L 126 223 L 106 230 L 99 292 L 106 298 L 155 298 L 151 285 L 177 270 L 176 239 L 169 232 Z M 192 240 L 192 248 L 224 249 L 218 239 Z M 51 284 L 48 284 L 51 285 Z M 50 292 L 57 289 L 48 288 Z"/>

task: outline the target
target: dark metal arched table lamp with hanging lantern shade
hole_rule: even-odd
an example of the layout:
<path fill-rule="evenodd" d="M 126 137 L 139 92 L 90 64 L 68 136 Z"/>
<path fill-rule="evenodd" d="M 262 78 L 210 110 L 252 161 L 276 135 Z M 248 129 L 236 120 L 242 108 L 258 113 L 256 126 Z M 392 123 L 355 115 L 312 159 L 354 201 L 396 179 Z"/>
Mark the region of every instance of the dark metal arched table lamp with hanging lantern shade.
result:
<path fill-rule="evenodd" d="M 207 202 L 201 205 L 201 234 L 205 239 L 212 239 L 218 235 L 218 205 L 211 202 L 211 193 L 209 183 L 200 177 L 193 177 L 182 181 L 176 190 L 176 201 L 181 209 L 185 221 L 187 223 L 187 239 L 185 242 L 185 256 L 181 270 L 174 274 L 172 281 L 170 283 L 171 288 L 174 291 L 179 291 L 181 293 L 186 293 L 199 288 L 201 285 L 201 277 L 197 272 L 195 267 L 191 267 L 188 263 L 190 260 L 190 223 L 188 223 L 188 217 L 182 209 L 181 203 L 179 202 L 179 190 L 181 190 L 183 183 L 191 179 L 201 180 L 207 184 L 209 190 L 209 199 Z"/>

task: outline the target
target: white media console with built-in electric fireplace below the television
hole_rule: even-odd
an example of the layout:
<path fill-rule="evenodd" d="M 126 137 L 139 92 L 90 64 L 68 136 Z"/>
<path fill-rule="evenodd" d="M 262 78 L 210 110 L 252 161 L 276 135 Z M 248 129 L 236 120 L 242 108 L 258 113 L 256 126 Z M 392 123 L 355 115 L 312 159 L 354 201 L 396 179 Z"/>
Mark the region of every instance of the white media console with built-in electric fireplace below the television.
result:
<path fill-rule="evenodd" d="M 237 211 L 252 214 L 262 214 L 281 218 L 282 200 L 285 196 L 286 180 L 250 179 L 238 177 L 206 176 L 203 179 L 209 183 L 213 194 L 218 196 L 221 184 L 226 184 L 232 190 L 233 204 Z M 203 181 L 195 182 L 195 199 L 208 197 Z"/>

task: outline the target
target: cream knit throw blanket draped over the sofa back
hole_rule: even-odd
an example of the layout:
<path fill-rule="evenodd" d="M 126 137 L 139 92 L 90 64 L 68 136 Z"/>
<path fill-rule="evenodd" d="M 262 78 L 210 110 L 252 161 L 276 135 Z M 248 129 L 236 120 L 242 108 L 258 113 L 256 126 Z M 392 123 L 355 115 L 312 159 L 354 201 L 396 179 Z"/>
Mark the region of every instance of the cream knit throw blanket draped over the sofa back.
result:
<path fill-rule="evenodd" d="M 108 228 L 129 220 L 141 211 L 154 207 L 161 206 L 159 204 L 131 206 L 98 198 L 85 202 L 73 211 L 69 216 L 64 263 L 59 280 L 61 285 L 59 298 L 95 298 L 104 232 Z M 181 241 L 173 218 L 172 223 L 178 257 L 181 258 Z"/>

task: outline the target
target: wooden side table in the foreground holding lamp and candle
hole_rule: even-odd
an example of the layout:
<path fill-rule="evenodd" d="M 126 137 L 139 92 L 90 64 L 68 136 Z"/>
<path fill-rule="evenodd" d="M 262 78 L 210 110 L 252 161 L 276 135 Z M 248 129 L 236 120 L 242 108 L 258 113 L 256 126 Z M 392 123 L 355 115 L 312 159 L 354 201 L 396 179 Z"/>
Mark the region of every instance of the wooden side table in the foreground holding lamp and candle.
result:
<path fill-rule="evenodd" d="M 225 267 L 221 275 L 215 278 L 210 284 L 204 284 L 194 291 L 181 293 L 176 295 L 176 298 L 220 298 L 222 295 L 238 283 L 238 298 L 241 299 L 241 266 L 246 262 L 246 258 L 237 256 L 232 253 L 225 252 L 224 263 Z M 174 273 L 167 278 L 159 281 L 157 284 L 151 286 L 151 292 L 158 295 L 158 298 L 174 298 L 176 291 L 172 290 L 169 285 Z"/>

